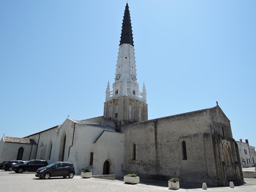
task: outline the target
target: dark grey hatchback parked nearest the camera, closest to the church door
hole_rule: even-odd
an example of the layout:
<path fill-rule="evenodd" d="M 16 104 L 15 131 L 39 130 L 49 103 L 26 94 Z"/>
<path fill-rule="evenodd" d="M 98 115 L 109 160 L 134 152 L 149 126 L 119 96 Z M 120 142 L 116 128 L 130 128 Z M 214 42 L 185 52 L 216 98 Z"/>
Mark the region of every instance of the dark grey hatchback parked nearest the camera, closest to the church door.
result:
<path fill-rule="evenodd" d="M 75 168 L 70 162 L 54 162 L 48 166 L 41 167 L 35 172 L 35 177 L 49 179 L 50 177 L 69 177 L 73 178 Z"/>

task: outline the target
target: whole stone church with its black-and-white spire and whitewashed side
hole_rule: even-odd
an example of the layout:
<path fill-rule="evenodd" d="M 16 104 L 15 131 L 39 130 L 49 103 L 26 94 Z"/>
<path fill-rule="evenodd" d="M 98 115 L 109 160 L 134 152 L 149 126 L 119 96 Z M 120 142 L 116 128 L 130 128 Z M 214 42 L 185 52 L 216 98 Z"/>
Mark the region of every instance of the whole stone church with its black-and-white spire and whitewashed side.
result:
<path fill-rule="evenodd" d="M 113 55 L 115 56 L 115 55 Z M 70 119 L 27 137 L 2 137 L 0 161 L 70 161 L 76 173 L 227 186 L 243 181 L 230 120 L 218 106 L 148 120 L 145 84 L 139 90 L 128 3 L 111 88 L 103 116 Z"/>

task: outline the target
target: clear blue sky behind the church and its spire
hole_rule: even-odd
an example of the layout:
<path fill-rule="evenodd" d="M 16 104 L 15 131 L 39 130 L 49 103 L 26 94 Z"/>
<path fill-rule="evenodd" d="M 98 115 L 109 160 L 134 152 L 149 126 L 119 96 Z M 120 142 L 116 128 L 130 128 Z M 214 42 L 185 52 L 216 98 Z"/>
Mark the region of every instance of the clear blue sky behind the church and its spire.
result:
<path fill-rule="evenodd" d="M 126 0 L 0 0 L 0 137 L 103 115 Z M 148 119 L 218 101 L 256 146 L 256 1 L 129 0 Z"/>

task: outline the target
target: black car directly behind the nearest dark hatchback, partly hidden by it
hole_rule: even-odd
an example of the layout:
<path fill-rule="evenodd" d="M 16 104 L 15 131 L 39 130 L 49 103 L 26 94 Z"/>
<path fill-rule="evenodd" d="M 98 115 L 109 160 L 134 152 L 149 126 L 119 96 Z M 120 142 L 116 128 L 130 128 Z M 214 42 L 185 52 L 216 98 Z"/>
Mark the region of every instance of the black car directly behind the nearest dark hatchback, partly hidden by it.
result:
<path fill-rule="evenodd" d="M 45 160 L 29 160 L 24 164 L 16 164 L 12 166 L 12 170 L 15 171 L 16 173 L 36 172 L 38 168 L 47 165 L 48 163 Z"/>

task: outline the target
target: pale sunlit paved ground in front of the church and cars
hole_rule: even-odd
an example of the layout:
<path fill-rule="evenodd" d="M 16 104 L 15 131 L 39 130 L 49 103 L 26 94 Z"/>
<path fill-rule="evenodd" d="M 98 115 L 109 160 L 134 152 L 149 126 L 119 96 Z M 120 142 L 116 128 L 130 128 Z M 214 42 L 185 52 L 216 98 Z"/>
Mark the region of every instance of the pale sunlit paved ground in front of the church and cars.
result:
<path fill-rule="evenodd" d="M 247 171 L 250 168 L 246 168 Z M 254 169 L 254 168 L 253 168 Z M 252 171 L 253 171 L 252 169 Z M 245 170 L 244 170 L 245 171 Z M 180 183 L 178 192 L 256 192 L 256 179 L 245 178 L 241 186 L 213 187 L 207 190 L 202 185 L 189 185 Z M 103 180 L 96 178 L 84 179 L 76 175 L 73 179 L 53 177 L 49 180 L 35 177 L 35 173 L 25 172 L 17 174 L 0 170 L 0 192 L 161 192 L 172 191 L 168 189 L 167 182 L 141 180 L 140 183 L 125 184 L 122 180 Z M 194 188 L 194 189 L 193 189 Z"/>

